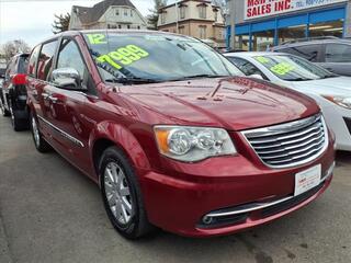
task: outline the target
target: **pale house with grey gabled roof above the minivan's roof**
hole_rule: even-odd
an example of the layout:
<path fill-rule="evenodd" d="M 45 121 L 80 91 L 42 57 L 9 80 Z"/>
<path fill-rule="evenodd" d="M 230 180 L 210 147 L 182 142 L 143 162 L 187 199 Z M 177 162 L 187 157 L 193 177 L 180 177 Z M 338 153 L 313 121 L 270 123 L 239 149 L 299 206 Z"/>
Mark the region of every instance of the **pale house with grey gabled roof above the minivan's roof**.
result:
<path fill-rule="evenodd" d="M 73 5 L 69 30 L 146 30 L 147 22 L 129 0 L 105 0 L 95 5 Z"/>

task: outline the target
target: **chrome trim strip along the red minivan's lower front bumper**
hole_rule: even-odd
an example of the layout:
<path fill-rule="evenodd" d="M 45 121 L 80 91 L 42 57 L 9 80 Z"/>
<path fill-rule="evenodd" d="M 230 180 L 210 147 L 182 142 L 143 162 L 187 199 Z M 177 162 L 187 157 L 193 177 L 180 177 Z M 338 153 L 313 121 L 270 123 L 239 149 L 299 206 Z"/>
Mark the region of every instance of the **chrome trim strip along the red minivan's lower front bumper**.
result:
<path fill-rule="evenodd" d="M 335 167 L 336 167 L 336 162 L 333 162 L 328 168 L 326 175 L 320 180 L 320 184 L 324 183 L 328 178 L 331 176 Z M 214 213 L 210 213 L 210 214 L 205 215 L 205 217 L 222 217 L 222 216 L 233 216 L 233 215 L 249 213 L 249 211 L 253 211 L 253 210 L 263 209 L 263 208 L 267 208 L 267 207 L 270 207 L 270 206 L 273 206 L 273 205 L 278 205 L 280 203 L 283 203 L 285 201 L 292 199 L 294 197 L 296 197 L 296 196 L 287 196 L 287 197 L 284 197 L 284 198 L 278 199 L 278 201 L 273 201 L 273 202 L 270 202 L 270 203 L 262 203 L 262 204 L 257 205 L 256 207 L 246 208 L 246 209 L 239 209 L 239 210 L 234 209 L 234 210 L 224 211 L 224 213 L 215 213 L 214 211 Z"/>

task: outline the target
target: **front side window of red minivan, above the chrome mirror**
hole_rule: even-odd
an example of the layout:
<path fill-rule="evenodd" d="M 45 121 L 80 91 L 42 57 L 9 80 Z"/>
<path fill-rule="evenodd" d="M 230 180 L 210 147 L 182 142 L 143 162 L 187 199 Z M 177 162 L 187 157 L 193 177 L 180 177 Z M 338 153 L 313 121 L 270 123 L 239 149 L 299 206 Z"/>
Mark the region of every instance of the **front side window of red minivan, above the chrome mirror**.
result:
<path fill-rule="evenodd" d="M 86 65 L 81 58 L 77 44 L 70 39 L 64 39 L 58 53 L 56 68 L 73 68 L 83 79 L 86 75 Z"/>

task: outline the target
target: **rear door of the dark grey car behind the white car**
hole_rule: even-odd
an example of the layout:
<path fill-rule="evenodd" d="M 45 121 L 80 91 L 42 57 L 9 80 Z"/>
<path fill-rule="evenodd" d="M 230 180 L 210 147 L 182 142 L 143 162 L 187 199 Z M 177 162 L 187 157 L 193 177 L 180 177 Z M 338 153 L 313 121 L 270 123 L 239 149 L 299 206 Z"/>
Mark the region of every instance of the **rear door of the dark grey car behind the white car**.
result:
<path fill-rule="evenodd" d="M 351 44 L 327 43 L 324 47 L 320 66 L 333 73 L 351 77 Z"/>

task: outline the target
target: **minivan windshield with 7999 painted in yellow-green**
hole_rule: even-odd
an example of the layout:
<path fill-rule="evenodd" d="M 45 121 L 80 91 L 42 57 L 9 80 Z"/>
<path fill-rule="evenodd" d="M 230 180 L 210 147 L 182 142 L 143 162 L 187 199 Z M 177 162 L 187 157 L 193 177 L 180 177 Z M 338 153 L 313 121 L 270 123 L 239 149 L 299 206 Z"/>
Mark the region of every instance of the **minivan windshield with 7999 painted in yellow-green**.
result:
<path fill-rule="evenodd" d="M 242 76 L 222 55 L 191 37 L 99 32 L 84 38 L 104 81 Z"/>

